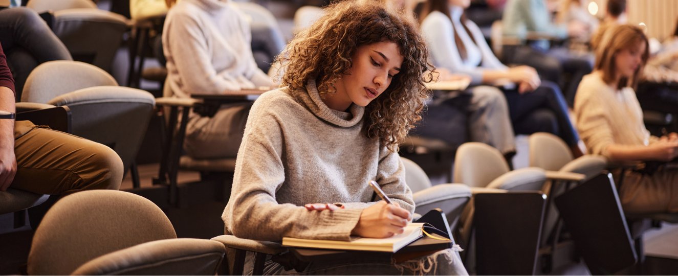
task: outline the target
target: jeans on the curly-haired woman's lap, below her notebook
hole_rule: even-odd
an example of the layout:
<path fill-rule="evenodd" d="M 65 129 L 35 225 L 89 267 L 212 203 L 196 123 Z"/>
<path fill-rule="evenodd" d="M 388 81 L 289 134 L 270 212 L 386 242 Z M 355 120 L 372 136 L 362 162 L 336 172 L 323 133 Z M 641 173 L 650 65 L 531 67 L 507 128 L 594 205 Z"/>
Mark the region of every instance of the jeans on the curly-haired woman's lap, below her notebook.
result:
<path fill-rule="evenodd" d="M 251 269 L 250 269 L 251 273 Z M 396 264 L 384 254 L 360 254 L 355 258 L 311 262 L 304 271 L 285 271 L 267 261 L 264 275 L 468 275 L 459 254 L 452 249 Z"/>

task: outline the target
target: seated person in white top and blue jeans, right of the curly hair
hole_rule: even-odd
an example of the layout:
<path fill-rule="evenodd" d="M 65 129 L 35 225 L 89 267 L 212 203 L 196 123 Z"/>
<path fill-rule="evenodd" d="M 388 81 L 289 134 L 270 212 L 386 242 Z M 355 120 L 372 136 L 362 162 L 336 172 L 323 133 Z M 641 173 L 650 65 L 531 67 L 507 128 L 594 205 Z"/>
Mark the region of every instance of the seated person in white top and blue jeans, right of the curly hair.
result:
<path fill-rule="evenodd" d="M 421 29 L 436 66 L 468 74 L 472 85 L 492 85 L 501 80 L 516 83 L 516 89 L 504 89 L 503 93 L 515 133 L 554 133 L 570 145 L 575 156 L 580 156 L 579 137 L 567 116 L 567 104 L 557 85 L 542 83 L 536 70 L 530 66 L 504 66 L 490 50 L 478 26 L 464 16 L 469 2 L 426 1 Z M 502 91 L 494 87 L 484 90 L 485 93 L 492 90 L 494 97 L 502 97 Z M 475 92 L 476 89 L 473 89 Z M 504 133 L 500 129 L 494 131 Z"/>

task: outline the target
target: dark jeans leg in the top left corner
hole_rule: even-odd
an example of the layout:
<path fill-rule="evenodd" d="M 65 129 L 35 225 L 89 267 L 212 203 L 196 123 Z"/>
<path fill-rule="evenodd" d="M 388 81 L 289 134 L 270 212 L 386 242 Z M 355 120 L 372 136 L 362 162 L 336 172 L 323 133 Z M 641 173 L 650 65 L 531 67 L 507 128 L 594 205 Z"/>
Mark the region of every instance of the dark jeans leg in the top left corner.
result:
<path fill-rule="evenodd" d="M 52 60 L 73 60 L 56 34 L 33 9 L 0 9 L 0 45 L 7 55 L 7 66 L 14 76 L 16 97 L 35 66 Z"/>

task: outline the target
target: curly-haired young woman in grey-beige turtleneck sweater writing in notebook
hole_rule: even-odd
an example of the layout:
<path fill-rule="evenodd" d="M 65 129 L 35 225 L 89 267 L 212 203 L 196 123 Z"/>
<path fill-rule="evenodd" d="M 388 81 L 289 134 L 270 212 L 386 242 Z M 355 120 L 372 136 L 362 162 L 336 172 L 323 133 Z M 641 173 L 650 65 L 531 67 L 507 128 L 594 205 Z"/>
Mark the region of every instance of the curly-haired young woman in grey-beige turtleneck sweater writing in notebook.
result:
<path fill-rule="evenodd" d="M 412 221 L 414 201 L 397 154 L 428 92 L 428 51 L 416 25 L 376 1 L 342 1 L 287 45 L 285 87 L 252 106 L 240 145 L 225 232 L 349 240 L 389 237 Z M 377 181 L 394 204 L 376 202 Z M 264 274 L 288 274 L 269 260 Z M 301 275 L 466 274 L 443 250 L 311 262 Z"/>

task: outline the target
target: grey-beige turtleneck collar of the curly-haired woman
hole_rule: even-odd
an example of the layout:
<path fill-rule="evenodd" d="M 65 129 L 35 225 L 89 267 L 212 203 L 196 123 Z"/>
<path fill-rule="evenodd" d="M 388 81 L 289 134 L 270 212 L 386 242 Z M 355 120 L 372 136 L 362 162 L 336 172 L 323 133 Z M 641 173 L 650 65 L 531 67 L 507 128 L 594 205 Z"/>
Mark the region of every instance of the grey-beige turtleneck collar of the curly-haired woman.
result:
<path fill-rule="evenodd" d="M 363 114 L 365 113 L 365 108 L 358 106 L 355 103 L 351 103 L 351 106 L 348 107 L 348 112 L 332 110 L 320 97 L 315 85 L 315 79 L 308 80 L 305 91 L 304 89 L 298 89 L 297 91 L 290 91 L 290 93 L 297 101 L 302 103 L 308 111 L 313 112 L 318 118 L 321 118 L 330 124 L 335 124 L 336 126 L 355 126 L 363 119 Z"/>

